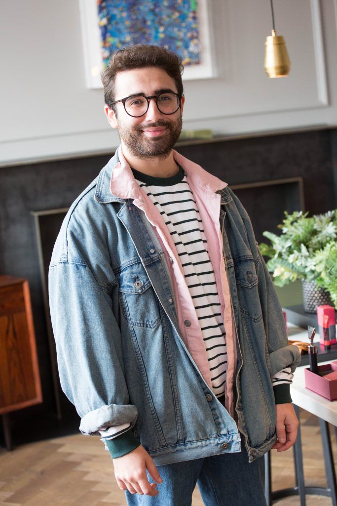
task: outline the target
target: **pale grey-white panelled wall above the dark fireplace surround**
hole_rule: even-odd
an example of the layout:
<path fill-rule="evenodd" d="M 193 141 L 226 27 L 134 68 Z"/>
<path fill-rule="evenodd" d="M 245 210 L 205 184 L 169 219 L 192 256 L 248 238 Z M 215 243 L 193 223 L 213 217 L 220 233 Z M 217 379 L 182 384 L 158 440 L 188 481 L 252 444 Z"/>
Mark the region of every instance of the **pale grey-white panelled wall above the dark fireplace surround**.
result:
<path fill-rule="evenodd" d="M 337 124 L 337 0 L 274 0 L 292 62 L 281 79 L 263 68 L 269 2 L 209 3 L 218 75 L 184 83 L 184 129 L 225 136 Z M 85 85 L 80 28 L 78 0 L 0 3 L 0 164 L 118 145 L 103 90 Z"/>

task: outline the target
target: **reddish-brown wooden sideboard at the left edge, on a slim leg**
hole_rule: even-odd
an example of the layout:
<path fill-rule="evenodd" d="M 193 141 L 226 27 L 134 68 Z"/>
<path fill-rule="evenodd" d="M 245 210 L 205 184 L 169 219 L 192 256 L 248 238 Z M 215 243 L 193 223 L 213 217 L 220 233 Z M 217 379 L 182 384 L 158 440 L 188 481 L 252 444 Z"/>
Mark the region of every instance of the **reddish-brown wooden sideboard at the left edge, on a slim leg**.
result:
<path fill-rule="evenodd" d="M 41 402 L 28 280 L 0 276 L 0 414 L 8 450 L 12 449 L 8 413 Z"/>

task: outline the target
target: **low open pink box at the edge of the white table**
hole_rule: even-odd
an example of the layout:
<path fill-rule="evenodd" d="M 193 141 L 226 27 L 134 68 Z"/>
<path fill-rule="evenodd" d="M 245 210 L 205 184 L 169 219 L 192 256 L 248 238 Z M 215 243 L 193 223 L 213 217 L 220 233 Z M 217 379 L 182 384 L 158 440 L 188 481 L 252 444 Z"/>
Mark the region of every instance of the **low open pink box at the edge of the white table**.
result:
<path fill-rule="evenodd" d="M 305 387 L 329 401 L 337 399 L 337 360 L 329 364 L 318 365 L 318 372 L 330 371 L 320 376 L 311 372 L 309 367 L 304 369 Z"/>

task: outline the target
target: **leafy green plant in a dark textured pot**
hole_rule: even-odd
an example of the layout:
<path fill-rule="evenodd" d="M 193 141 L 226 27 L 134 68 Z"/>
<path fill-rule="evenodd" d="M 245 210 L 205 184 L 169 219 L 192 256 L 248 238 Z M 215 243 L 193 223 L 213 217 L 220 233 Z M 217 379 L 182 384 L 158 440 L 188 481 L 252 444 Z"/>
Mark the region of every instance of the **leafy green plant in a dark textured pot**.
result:
<path fill-rule="evenodd" d="M 284 215 L 281 235 L 265 231 L 271 244 L 259 245 L 275 285 L 301 279 L 307 313 L 321 304 L 337 306 L 337 209 L 312 217 L 302 211 Z"/>

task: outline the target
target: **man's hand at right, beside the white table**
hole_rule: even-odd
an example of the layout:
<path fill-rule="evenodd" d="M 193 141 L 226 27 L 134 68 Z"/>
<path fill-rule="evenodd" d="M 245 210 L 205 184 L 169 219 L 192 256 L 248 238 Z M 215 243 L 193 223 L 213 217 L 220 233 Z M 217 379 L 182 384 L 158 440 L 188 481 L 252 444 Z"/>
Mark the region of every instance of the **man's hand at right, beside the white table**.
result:
<path fill-rule="evenodd" d="M 276 404 L 276 435 L 277 443 L 271 449 L 285 451 L 296 441 L 299 420 L 291 402 Z"/>

